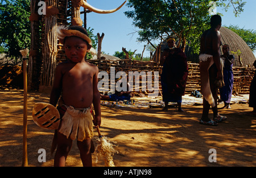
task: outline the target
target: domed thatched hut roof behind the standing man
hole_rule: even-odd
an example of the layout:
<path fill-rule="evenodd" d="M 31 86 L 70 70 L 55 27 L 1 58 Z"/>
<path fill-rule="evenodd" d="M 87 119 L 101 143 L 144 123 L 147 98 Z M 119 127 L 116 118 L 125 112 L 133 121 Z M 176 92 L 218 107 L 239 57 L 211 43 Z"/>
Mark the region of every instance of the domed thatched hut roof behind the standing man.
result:
<path fill-rule="evenodd" d="M 256 58 L 253 52 L 251 51 L 251 49 L 249 48 L 249 46 L 245 43 L 245 41 L 243 41 L 243 39 L 240 36 L 238 36 L 237 33 L 225 27 L 220 28 L 220 33 L 221 33 L 222 44 L 229 45 L 230 54 L 232 54 L 232 52 L 237 52 L 238 50 L 240 50 L 243 66 L 246 66 L 246 65 L 252 66 Z M 187 55 L 188 61 L 199 63 L 199 55 L 191 54 L 191 48 L 189 48 L 189 45 L 186 46 L 185 54 Z M 221 47 L 221 54 L 222 54 L 222 47 Z M 234 66 L 240 66 L 240 62 L 238 60 L 237 54 L 234 54 L 234 56 L 235 56 Z"/>

